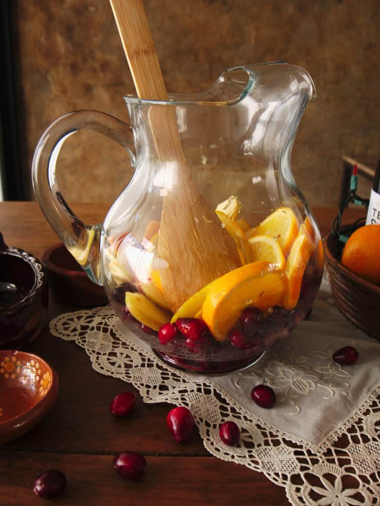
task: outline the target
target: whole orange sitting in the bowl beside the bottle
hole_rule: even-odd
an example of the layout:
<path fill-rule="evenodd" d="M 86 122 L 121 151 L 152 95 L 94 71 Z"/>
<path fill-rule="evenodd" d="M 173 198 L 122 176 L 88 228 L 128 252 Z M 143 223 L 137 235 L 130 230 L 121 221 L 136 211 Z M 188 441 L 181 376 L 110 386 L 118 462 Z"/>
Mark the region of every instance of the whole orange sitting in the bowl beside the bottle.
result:
<path fill-rule="evenodd" d="M 355 230 L 346 242 L 341 263 L 358 276 L 380 285 L 380 224 Z"/>

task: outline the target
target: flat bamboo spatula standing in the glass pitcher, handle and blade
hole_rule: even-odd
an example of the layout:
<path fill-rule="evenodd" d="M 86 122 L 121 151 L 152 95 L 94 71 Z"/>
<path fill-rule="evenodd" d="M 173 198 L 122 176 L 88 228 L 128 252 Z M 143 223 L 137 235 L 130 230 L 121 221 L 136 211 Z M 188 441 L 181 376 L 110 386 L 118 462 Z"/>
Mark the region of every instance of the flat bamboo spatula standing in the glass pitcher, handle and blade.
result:
<path fill-rule="evenodd" d="M 110 4 L 138 97 L 167 100 L 142 1 Z M 162 288 L 175 312 L 203 286 L 241 263 L 233 239 L 195 188 L 182 151 L 176 107 L 151 106 L 149 122 L 160 162 L 171 162 L 168 167 L 176 181 L 164 196 L 158 243 L 158 256 L 168 263 L 160 270 Z"/>

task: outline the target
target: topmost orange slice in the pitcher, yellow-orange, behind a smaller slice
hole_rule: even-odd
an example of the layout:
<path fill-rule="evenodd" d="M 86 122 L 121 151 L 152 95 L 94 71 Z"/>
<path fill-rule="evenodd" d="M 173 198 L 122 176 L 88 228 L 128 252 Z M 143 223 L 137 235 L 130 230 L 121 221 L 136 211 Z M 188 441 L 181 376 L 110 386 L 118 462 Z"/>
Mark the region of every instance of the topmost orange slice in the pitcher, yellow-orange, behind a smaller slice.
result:
<path fill-rule="evenodd" d="M 249 239 L 253 235 L 270 235 L 279 242 L 285 256 L 293 246 L 298 234 L 298 222 L 290 208 L 278 208 L 257 227 L 246 231 Z"/>

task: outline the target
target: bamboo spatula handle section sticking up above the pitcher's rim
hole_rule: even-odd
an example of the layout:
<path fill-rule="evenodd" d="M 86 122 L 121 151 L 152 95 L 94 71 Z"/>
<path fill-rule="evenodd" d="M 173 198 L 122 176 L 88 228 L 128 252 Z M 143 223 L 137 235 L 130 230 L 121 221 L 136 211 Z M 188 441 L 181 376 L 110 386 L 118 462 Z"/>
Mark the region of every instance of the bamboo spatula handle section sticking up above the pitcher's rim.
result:
<path fill-rule="evenodd" d="M 110 0 L 129 69 L 141 99 L 167 100 L 167 92 L 141 0 Z"/>

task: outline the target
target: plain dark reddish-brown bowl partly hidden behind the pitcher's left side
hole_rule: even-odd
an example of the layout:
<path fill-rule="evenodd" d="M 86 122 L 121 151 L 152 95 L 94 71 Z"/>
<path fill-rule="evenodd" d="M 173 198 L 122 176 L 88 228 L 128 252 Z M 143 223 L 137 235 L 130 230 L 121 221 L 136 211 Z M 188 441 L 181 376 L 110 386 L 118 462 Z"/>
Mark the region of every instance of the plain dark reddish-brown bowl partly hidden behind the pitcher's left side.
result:
<path fill-rule="evenodd" d="M 54 298 L 66 306 L 93 307 L 108 304 L 103 287 L 92 283 L 62 242 L 42 256 Z"/>

